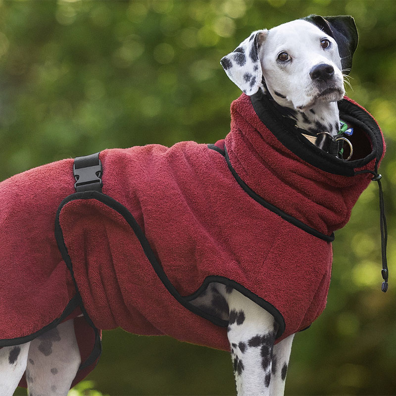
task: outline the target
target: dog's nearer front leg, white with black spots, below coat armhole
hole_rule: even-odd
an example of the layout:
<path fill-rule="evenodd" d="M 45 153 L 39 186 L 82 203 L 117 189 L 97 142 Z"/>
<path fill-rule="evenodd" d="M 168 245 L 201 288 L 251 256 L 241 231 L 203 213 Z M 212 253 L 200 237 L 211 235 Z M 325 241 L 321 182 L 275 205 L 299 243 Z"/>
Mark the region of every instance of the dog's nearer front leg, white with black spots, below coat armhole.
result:
<path fill-rule="evenodd" d="M 270 313 L 235 290 L 228 303 L 228 340 L 238 396 L 281 396 L 270 393 L 272 351 L 278 324 Z"/>

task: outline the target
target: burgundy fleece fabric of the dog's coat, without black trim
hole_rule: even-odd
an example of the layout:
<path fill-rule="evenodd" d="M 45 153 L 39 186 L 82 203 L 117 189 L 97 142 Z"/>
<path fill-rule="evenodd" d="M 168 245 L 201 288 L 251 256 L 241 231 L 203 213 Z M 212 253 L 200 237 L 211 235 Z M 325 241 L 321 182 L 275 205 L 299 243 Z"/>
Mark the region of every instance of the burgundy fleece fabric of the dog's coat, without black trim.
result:
<path fill-rule="evenodd" d="M 216 146 L 224 144 L 256 194 L 325 235 L 347 223 L 372 177 L 333 174 L 302 160 L 264 125 L 246 95 L 232 103 L 231 132 Z M 218 326 L 226 323 L 190 310 L 209 282 L 236 286 L 277 314 L 284 332 L 276 342 L 323 311 L 331 243 L 249 197 L 220 152 L 182 142 L 106 149 L 99 158 L 103 194 L 74 194 L 61 206 L 74 193 L 72 159 L 0 183 L 0 346 L 54 325 L 76 296 L 68 260 L 98 329 L 120 326 L 229 350 L 226 327 Z M 356 170 L 372 170 L 374 162 Z M 67 257 L 55 240 L 55 220 Z M 84 361 L 94 333 L 76 318 L 80 313 L 76 308 L 68 318 L 75 318 Z M 80 370 L 73 385 L 93 366 Z"/>

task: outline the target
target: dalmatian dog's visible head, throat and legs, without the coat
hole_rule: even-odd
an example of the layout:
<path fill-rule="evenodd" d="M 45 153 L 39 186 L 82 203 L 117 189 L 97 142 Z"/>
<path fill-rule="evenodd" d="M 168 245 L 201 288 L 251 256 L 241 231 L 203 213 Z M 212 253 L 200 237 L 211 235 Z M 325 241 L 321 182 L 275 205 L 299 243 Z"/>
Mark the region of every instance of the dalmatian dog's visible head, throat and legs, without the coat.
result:
<path fill-rule="evenodd" d="M 332 31 L 327 21 L 338 29 Z M 357 45 L 357 34 L 356 42 L 338 36 L 347 29 L 356 29 L 351 17 L 311 15 L 258 30 L 221 65 L 244 93 L 262 90 L 299 128 L 336 135 L 337 101 L 344 96 L 351 64 L 345 47 Z M 274 317 L 229 286 L 212 283 L 194 303 L 224 312 L 229 320 L 238 396 L 282 396 L 294 335 L 275 344 Z M 0 349 L 0 395 L 13 395 L 26 372 L 30 396 L 66 396 L 80 363 L 73 324 L 66 321 L 29 343 Z"/>

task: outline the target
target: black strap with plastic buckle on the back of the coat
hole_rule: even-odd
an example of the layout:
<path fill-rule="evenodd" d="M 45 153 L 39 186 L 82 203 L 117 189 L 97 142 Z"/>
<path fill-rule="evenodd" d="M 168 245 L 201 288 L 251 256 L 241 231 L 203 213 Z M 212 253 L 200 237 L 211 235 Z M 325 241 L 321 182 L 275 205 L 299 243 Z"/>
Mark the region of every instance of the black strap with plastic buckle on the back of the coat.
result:
<path fill-rule="evenodd" d="M 99 152 L 74 158 L 73 175 L 76 180 L 74 184 L 76 193 L 83 191 L 99 191 L 101 193 L 102 171 Z"/>

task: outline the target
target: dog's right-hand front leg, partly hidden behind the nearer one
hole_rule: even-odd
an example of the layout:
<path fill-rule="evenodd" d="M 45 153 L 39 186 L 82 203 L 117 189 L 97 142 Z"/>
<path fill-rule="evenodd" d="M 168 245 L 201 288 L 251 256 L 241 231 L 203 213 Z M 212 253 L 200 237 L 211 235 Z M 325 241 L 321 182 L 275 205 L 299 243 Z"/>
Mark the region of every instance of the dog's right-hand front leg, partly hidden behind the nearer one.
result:
<path fill-rule="evenodd" d="M 269 386 L 269 394 L 271 396 L 282 396 L 285 392 L 286 373 L 288 371 L 293 338 L 294 334 L 274 346 L 271 383 Z"/>

